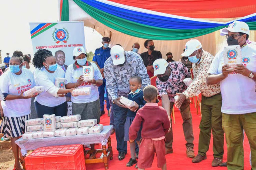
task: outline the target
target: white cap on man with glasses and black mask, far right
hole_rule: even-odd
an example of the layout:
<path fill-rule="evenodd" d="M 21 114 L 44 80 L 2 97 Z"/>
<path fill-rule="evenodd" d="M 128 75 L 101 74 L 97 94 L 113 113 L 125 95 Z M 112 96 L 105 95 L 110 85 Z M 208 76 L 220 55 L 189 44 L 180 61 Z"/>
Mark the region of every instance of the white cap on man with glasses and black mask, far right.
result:
<path fill-rule="evenodd" d="M 241 21 L 234 21 L 228 25 L 228 28 L 224 28 L 221 31 L 221 35 L 227 35 L 230 32 L 242 32 L 250 35 L 250 29 L 247 23 Z"/>

